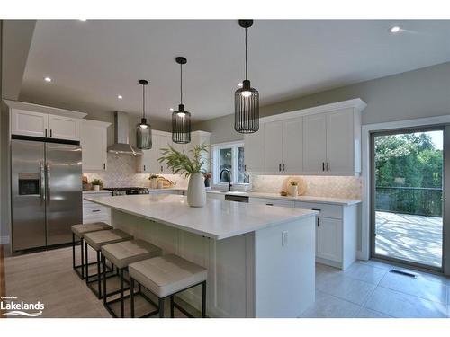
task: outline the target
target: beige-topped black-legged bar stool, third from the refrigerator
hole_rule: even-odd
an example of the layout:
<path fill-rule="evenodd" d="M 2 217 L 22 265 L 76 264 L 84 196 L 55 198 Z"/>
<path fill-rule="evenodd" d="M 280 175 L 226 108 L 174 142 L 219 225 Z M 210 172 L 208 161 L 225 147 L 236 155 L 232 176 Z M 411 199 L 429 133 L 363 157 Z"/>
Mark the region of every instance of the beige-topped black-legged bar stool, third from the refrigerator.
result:
<path fill-rule="evenodd" d="M 117 317 L 117 315 L 112 310 L 110 306 L 112 303 L 121 301 L 121 317 L 123 318 L 124 313 L 124 299 L 130 297 L 130 295 L 124 297 L 123 292 L 125 290 L 130 289 L 130 293 L 134 292 L 134 288 L 123 288 L 123 271 L 127 270 L 127 267 L 130 263 L 139 262 L 141 260 L 150 259 L 152 257 L 156 257 L 161 255 L 161 248 L 157 247 L 154 244 L 149 244 L 143 240 L 130 240 L 130 241 L 122 241 L 116 244 L 105 244 L 102 246 L 102 262 L 103 262 L 103 305 L 112 315 L 112 317 Z M 118 291 L 113 291 L 112 293 L 107 292 L 106 290 L 106 259 L 112 262 L 119 271 L 119 277 L 121 279 L 121 297 L 117 299 L 113 299 L 108 301 L 108 296 L 117 294 Z M 129 283 L 127 281 L 127 283 Z M 140 291 L 140 287 L 139 287 Z M 144 294 L 142 296 L 145 297 Z M 149 298 L 146 298 L 149 300 Z M 150 300 L 151 301 L 151 300 Z M 155 315 L 156 313 L 151 313 L 151 315 Z"/>

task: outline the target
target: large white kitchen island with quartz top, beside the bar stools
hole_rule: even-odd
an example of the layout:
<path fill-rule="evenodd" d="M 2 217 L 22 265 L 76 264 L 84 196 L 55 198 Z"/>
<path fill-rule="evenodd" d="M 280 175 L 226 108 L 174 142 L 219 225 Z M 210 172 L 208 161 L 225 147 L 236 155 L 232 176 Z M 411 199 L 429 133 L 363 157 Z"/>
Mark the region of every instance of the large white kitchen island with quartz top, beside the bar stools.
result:
<path fill-rule="evenodd" d="M 297 317 L 314 302 L 316 211 L 173 194 L 85 198 L 112 226 L 208 269 L 207 315 Z M 200 289 L 181 296 L 200 307 Z"/>

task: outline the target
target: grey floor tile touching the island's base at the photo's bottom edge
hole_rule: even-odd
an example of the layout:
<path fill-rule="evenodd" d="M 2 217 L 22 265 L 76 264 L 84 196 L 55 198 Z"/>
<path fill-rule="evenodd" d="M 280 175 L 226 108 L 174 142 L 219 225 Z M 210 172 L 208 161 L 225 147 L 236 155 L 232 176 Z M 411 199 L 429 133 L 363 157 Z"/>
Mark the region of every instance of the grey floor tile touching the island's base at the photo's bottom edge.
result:
<path fill-rule="evenodd" d="M 352 318 L 361 306 L 346 300 L 316 291 L 316 302 L 306 309 L 302 318 Z"/>

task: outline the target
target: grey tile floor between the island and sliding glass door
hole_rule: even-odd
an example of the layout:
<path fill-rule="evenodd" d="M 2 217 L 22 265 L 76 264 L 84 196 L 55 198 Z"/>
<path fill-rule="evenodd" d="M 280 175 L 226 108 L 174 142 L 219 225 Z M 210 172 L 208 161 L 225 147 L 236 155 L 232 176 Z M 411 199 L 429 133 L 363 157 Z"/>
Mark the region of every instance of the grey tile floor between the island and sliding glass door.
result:
<path fill-rule="evenodd" d="M 389 264 L 356 262 L 347 270 L 316 265 L 316 302 L 302 317 L 448 318 L 450 279 L 412 271 L 416 279 L 389 272 Z"/>

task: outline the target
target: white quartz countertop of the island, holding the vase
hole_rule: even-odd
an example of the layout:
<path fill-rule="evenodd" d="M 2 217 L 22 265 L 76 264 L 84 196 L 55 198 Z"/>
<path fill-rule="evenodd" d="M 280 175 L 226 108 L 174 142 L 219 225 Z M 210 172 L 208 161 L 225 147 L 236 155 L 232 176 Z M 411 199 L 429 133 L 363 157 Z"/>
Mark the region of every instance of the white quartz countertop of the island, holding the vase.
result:
<path fill-rule="evenodd" d="M 309 209 L 212 199 L 208 199 L 202 208 L 191 208 L 186 197 L 174 194 L 95 196 L 85 197 L 85 200 L 216 240 L 318 214 Z"/>

